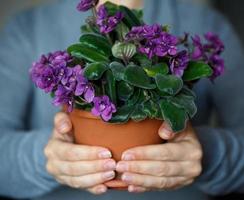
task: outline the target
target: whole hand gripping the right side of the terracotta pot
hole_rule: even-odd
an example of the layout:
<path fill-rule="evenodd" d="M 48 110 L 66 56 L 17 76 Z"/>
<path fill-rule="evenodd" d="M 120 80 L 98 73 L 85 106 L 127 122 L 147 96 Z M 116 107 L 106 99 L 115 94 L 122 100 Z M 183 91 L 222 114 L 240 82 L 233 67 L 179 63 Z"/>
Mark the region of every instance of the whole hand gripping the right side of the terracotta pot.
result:
<path fill-rule="evenodd" d="M 117 171 L 129 184 L 129 192 L 176 189 L 191 184 L 200 175 L 202 149 L 194 129 L 174 135 L 164 123 L 159 129 L 166 144 L 136 147 L 122 155 Z"/>

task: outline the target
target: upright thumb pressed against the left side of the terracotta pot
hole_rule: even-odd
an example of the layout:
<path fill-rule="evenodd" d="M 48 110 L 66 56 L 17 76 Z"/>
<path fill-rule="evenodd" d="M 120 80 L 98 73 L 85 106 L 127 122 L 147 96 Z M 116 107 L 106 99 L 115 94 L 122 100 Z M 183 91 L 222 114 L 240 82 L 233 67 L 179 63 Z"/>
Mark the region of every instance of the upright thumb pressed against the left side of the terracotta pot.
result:
<path fill-rule="evenodd" d="M 72 123 L 66 113 L 59 112 L 55 115 L 54 128 L 56 134 L 58 134 L 58 136 L 63 136 L 63 139 L 68 139 L 69 141 L 73 139 L 70 133 L 72 131 Z"/>

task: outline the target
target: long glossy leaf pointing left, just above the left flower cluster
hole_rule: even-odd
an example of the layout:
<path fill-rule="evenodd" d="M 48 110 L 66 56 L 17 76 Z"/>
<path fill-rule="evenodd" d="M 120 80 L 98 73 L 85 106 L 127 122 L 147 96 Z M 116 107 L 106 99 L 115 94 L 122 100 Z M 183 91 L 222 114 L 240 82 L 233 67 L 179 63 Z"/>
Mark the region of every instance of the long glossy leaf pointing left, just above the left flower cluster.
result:
<path fill-rule="evenodd" d="M 109 62 L 108 56 L 85 44 L 74 44 L 67 49 L 68 53 L 75 58 L 89 62 Z"/>

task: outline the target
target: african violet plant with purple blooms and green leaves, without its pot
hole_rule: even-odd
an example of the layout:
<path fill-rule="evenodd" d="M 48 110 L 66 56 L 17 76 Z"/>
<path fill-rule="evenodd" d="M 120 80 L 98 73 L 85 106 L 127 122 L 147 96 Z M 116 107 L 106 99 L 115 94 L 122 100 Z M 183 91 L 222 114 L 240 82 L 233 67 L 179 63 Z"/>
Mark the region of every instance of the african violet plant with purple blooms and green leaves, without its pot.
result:
<path fill-rule="evenodd" d="M 219 37 L 176 37 L 167 26 L 145 24 L 141 10 L 97 4 L 80 1 L 77 9 L 92 9 L 93 16 L 79 42 L 43 55 L 30 69 L 33 82 L 69 112 L 91 111 L 109 123 L 166 120 L 173 131 L 183 130 L 197 112 L 194 83 L 223 73 Z"/>

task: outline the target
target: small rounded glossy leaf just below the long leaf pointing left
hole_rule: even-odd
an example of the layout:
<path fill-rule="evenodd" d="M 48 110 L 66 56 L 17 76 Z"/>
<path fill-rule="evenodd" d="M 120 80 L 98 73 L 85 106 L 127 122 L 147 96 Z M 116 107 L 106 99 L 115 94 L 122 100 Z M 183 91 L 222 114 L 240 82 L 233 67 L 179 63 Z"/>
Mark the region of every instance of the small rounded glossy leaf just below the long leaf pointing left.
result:
<path fill-rule="evenodd" d="M 88 80 L 99 80 L 109 67 L 106 63 L 96 62 L 88 64 L 84 70 L 84 76 Z"/>

